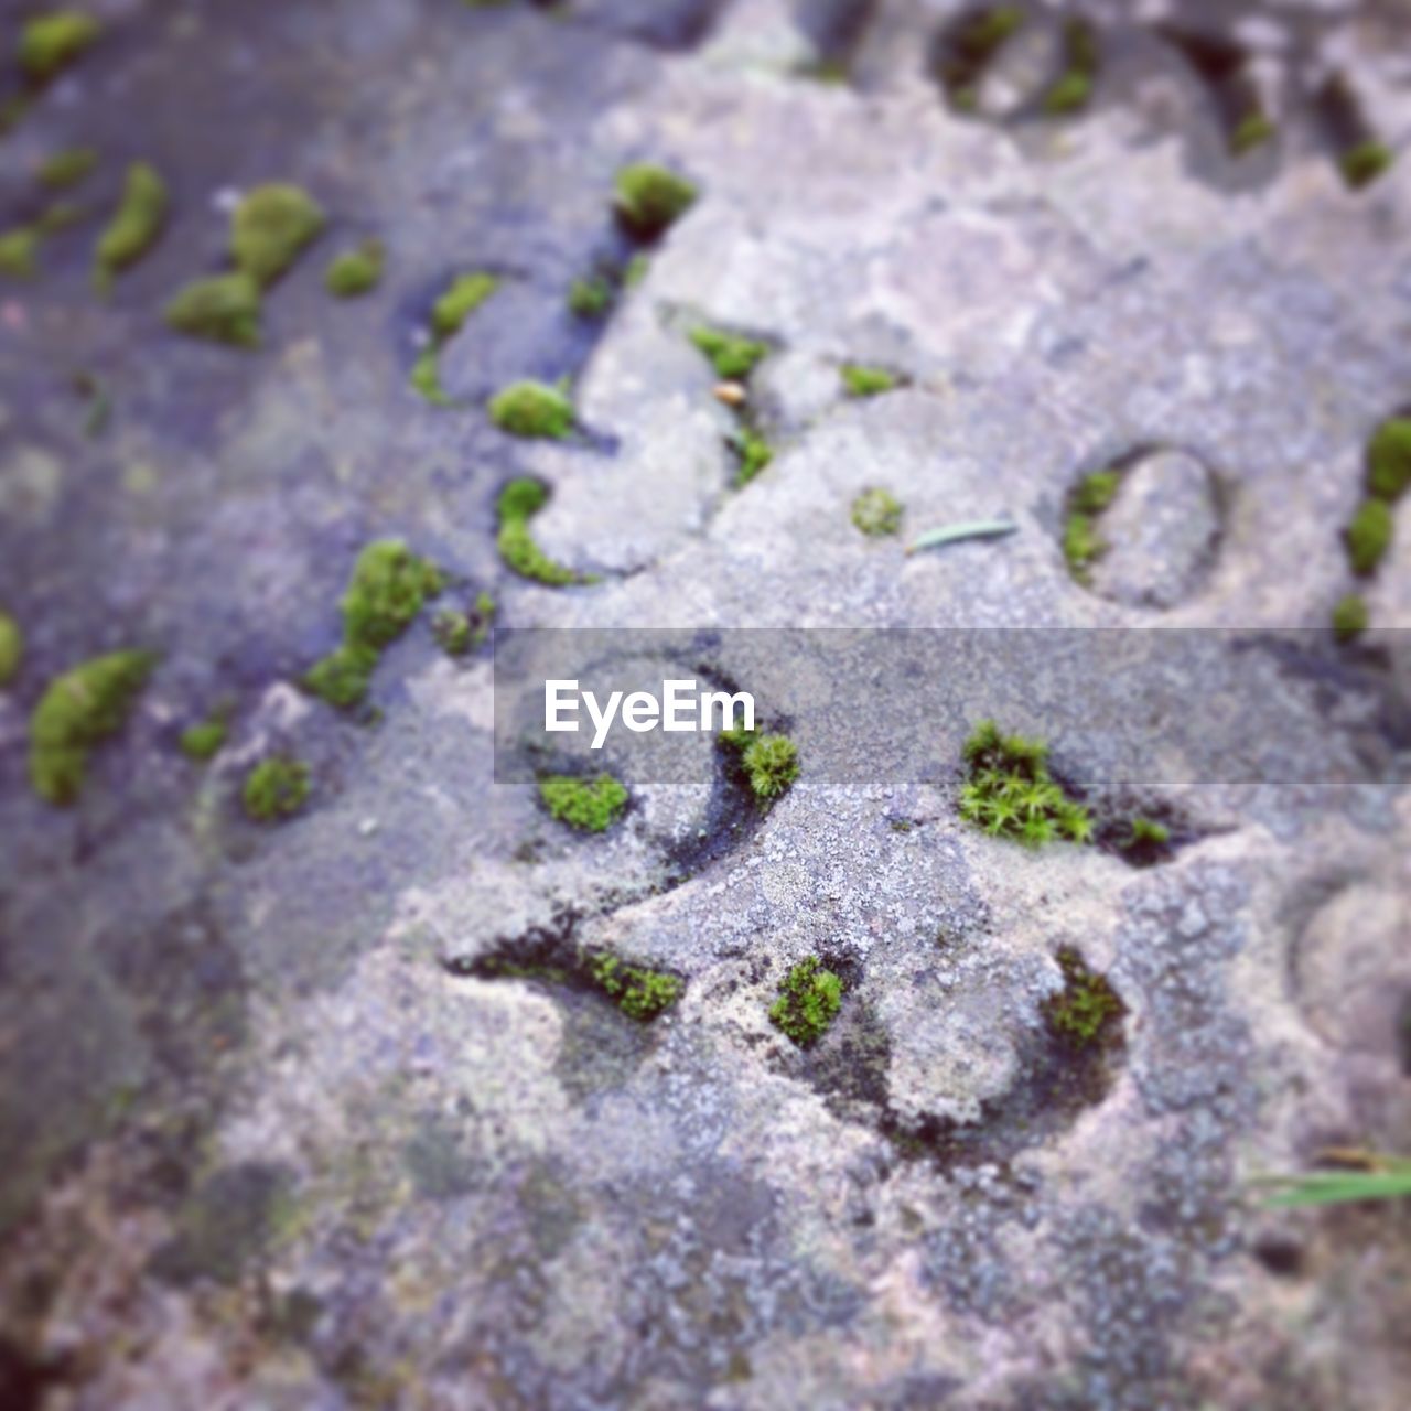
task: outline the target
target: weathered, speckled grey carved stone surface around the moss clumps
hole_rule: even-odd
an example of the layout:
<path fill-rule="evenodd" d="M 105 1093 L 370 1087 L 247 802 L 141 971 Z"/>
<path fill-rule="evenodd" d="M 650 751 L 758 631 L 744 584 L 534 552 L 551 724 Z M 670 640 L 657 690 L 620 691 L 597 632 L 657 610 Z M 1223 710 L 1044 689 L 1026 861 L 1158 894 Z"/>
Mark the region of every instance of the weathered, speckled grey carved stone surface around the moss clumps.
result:
<path fill-rule="evenodd" d="M 6 230 L 45 209 L 40 161 L 102 152 L 83 219 L 0 282 L 0 608 L 25 634 L 0 690 L 0 1405 L 1400 1411 L 1404 1204 L 1274 1212 L 1250 1181 L 1411 1151 L 1407 505 L 1364 583 L 1340 540 L 1411 398 L 1411 165 L 1350 190 L 1326 97 L 1340 75 L 1405 147 L 1404 7 L 1094 3 L 1101 78 L 1064 120 L 1024 96 L 1043 44 L 952 111 L 958 7 L 924 0 L 92 8 L 102 41 L 0 145 Z M 1192 34 L 1235 69 L 1192 65 Z M 1235 158 L 1245 79 L 1276 135 Z M 610 207 L 641 159 L 700 188 L 645 250 Z M 131 161 L 171 217 L 100 301 Z M 329 227 L 262 347 L 176 337 L 164 302 L 270 181 Z M 381 285 L 330 298 L 367 237 Z M 502 282 L 432 406 L 408 378 L 470 271 Z M 594 271 L 612 306 L 576 316 Z M 769 346 L 745 405 L 775 456 L 739 490 L 701 323 Z M 845 363 L 902 385 L 849 398 Z M 490 423 L 526 377 L 569 380 L 571 439 Z M 1075 581 L 1068 494 L 1137 453 L 1177 470 L 1127 477 Z M 553 491 L 539 545 L 601 581 L 501 564 L 523 474 Z M 866 487 L 900 535 L 854 528 Z M 906 553 L 1000 515 L 1007 538 Z M 1153 748 L 1144 697 L 1064 724 L 1031 632 L 920 746 L 859 729 L 854 768 L 810 773 L 811 738 L 847 758 L 852 659 L 707 642 L 806 742 L 797 783 L 759 810 L 708 742 L 670 780 L 625 759 L 622 821 L 573 834 L 495 782 L 488 648 L 450 659 L 423 617 L 368 718 L 298 689 L 388 535 L 509 626 L 1239 628 L 1267 703 L 1221 715 L 1216 656 L 1182 728 L 1218 717 L 1260 768 L 1115 785 Z M 1355 587 L 1369 641 L 1277 648 Z M 120 646 L 161 655 L 152 683 L 47 807 L 30 711 Z M 996 694 L 1103 827 L 1150 814 L 1171 848 L 964 825 Z M 196 765 L 178 737 L 217 707 Z M 260 827 L 240 786 L 277 749 L 312 796 Z M 1081 1057 L 1044 1020 L 1065 945 L 1126 1006 Z M 545 976 L 577 947 L 680 1002 L 639 1024 Z M 768 1010 L 809 954 L 845 993 L 800 1050 Z"/>

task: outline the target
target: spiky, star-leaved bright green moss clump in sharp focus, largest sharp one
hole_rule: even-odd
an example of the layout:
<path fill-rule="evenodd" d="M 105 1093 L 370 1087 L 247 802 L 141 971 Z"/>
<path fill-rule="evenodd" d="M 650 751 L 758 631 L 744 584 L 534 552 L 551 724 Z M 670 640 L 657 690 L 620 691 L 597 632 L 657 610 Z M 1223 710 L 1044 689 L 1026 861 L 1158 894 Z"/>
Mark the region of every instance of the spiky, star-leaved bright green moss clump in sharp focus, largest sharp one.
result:
<path fill-rule="evenodd" d="M 1070 799 L 1048 773 L 1048 746 L 1041 739 L 1005 735 L 992 720 L 981 721 L 965 741 L 968 780 L 959 813 L 992 838 L 1012 838 L 1037 848 L 1055 838 L 1088 842 L 1088 810 Z"/>

